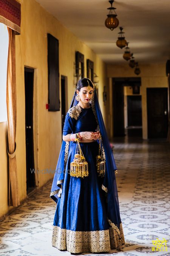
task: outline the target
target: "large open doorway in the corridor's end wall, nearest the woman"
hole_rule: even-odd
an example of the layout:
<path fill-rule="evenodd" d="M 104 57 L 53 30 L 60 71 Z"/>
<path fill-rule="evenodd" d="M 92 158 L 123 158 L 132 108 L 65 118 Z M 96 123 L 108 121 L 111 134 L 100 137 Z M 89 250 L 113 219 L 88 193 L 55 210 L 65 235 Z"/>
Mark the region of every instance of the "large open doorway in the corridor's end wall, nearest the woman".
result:
<path fill-rule="evenodd" d="M 124 137 L 126 135 L 134 135 L 134 136 L 142 136 L 142 127 L 136 130 L 136 134 L 133 130 L 127 131 L 127 126 L 131 127 L 133 124 L 139 123 L 139 126 L 142 126 L 142 117 L 139 117 L 140 121 L 137 118 L 136 120 L 131 115 L 136 111 L 140 112 L 142 115 L 142 107 L 141 107 L 141 96 L 132 95 L 129 98 L 129 119 L 127 121 L 127 109 L 125 110 L 125 105 L 127 105 L 127 96 L 124 95 L 124 88 L 131 88 L 131 94 L 139 94 L 141 86 L 141 77 L 117 77 L 112 79 L 112 99 L 113 99 L 113 137 Z M 136 88 L 138 89 L 136 91 Z M 135 98 L 136 97 L 136 100 Z M 139 101 L 139 102 L 138 102 Z M 139 107 L 140 106 L 140 107 Z M 136 110 L 135 110 L 136 109 Z M 140 109 L 140 111 L 139 111 Z M 138 113 L 139 114 L 139 113 Z M 137 123 L 136 123 L 137 122 Z M 129 124 L 128 124 L 129 123 Z"/>

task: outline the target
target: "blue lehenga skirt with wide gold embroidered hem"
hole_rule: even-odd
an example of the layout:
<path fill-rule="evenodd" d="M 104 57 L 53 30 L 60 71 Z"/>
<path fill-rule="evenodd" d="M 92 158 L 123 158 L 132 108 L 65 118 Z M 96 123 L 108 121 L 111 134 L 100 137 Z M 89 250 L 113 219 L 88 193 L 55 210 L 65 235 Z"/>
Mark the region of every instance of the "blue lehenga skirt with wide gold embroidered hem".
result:
<path fill-rule="evenodd" d="M 118 238 L 108 223 L 106 193 L 97 174 L 99 144 L 97 141 L 80 143 L 80 147 L 88 162 L 89 174 L 84 178 L 70 176 L 70 163 L 76 151 L 76 142 L 73 142 L 54 216 L 52 245 L 71 253 L 110 251 L 117 247 Z M 120 231 L 123 238 L 122 226 Z"/>

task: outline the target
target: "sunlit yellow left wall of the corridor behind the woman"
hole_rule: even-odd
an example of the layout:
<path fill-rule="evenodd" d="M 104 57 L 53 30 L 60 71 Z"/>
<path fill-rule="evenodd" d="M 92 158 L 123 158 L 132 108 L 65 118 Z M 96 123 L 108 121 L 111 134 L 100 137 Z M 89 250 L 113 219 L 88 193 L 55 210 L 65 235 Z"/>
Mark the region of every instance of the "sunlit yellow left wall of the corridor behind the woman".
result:
<path fill-rule="evenodd" d="M 21 35 L 16 36 L 16 82 L 17 82 L 17 131 L 16 158 L 19 179 L 20 201 L 26 198 L 26 150 L 25 150 L 25 85 L 24 66 L 35 68 L 34 79 L 34 138 L 36 166 L 39 170 L 54 170 L 60 151 L 62 130 L 61 112 L 48 112 L 48 68 L 47 68 L 47 33 L 59 39 L 60 75 L 68 77 L 68 106 L 70 106 L 74 86 L 75 51 L 84 54 L 85 76 L 87 74 L 86 59 L 94 61 L 94 72 L 99 76 L 99 102 L 104 120 L 106 107 L 103 105 L 102 92 L 106 85 L 106 65 L 100 58 L 75 35 L 68 31 L 51 14 L 45 11 L 34 0 L 20 0 L 21 3 Z M 60 90 L 61 92 L 61 90 Z M 37 135 L 38 134 L 38 135 Z M 0 217 L 6 214 L 8 207 L 8 177 L 6 156 L 6 123 L 0 123 Z M 36 145 L 35 143 L 35 145 Z M 54 174 L 38 174 L 37 185 L 42 186 Z M 39 183 L 38 183 L 39 182 Z M 49 191 L 50 193 L 50 191 Z M 3 207 L 2 207 L 3 206 Z"/>

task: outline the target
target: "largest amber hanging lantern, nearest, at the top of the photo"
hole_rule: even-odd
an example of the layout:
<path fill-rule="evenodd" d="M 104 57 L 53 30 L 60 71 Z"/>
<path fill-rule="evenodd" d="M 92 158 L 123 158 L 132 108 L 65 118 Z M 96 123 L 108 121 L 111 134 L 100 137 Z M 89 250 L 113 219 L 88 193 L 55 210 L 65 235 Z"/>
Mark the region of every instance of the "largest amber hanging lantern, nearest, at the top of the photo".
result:
<path fill-rule="evenodd" d="M 105 20 L 105 26 L 107 28 L 110 28 L 111 30 L 119 26 L 119 20 L 116 18 L 117 14 L 114 11 L 116 8 L 112 7 L 113 2 L 114 0 L 109 0 L 111 7 L 107 8 L 110 11 L 109 11 L 109 14 L 107 15 L 107 19 Z"/>

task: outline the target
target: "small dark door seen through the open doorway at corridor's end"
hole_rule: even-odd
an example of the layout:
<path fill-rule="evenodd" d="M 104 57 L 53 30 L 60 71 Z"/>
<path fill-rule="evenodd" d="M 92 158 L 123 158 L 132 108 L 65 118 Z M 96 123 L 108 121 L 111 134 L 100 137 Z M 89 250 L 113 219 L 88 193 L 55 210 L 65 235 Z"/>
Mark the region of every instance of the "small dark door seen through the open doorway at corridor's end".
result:
<path fill-rule="evenodd" d="M 128 126 L 142 126 L 141 95 L 127 96 Z"/>

